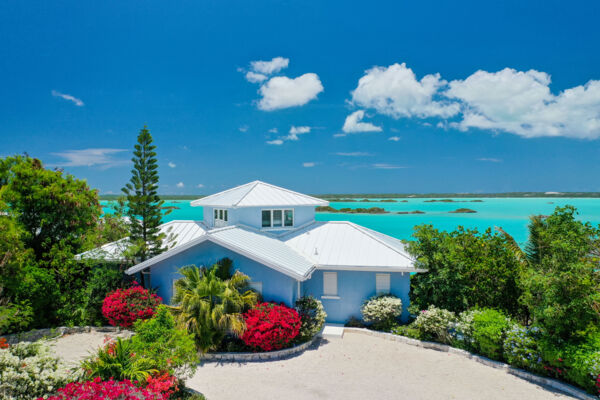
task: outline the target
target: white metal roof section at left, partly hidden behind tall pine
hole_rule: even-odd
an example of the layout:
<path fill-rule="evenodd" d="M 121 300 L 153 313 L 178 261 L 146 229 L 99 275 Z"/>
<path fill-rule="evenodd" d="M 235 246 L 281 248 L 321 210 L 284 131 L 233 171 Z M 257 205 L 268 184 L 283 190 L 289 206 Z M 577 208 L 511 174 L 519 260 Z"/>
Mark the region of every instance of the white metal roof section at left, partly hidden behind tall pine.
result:
<path fill-rule="evenodd" d="M 185 221 L 175 220 L 170 221 L 160 226 L 160 232 L 165 234 L 164 244 L 166 247 L 178 247 L 188 243 L 202 235 L 207 231 L 206 226 L 201 221 Z M 123 252 L 129 247 L 128 238 L 117 240 L 116 242 L 107 243 L 97 249 L 86 251 L 78 254 L 78 259 L 97 259 L 103 258 L 107 261 L 123 260 Z"/>

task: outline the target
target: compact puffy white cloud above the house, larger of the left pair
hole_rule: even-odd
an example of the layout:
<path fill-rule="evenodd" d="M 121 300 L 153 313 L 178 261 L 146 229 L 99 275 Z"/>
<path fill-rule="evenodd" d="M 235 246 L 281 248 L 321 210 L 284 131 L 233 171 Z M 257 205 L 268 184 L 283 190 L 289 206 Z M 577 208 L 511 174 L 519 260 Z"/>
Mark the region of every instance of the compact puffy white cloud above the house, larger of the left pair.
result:
<path fill-rule="evenodd" d="M 276 76 L 263 84 L 259 93 L 262 98 L 258 108 L 263 111 L 273 111 L 282 108 L 302 106 L 315 99 L 323 91 L 319 76 L 307 73 L 291 79 L 286 76 Z"/>

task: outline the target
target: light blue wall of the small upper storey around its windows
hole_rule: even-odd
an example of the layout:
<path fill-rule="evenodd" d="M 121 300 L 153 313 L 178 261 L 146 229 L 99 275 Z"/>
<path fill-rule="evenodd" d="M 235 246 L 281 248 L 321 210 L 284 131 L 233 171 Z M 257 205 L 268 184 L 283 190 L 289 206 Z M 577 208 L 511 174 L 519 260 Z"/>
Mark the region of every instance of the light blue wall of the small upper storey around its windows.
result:
<path fill-rule="evenodd" d="M 315 207 L 242 207 L 229 208 L 228 224 L 244 224 L 256 229 L 262 229 L 262 210 L 289 210 L 294 209 L 294 227 L 304 225 L 315 220 Z M 204 221 L 209 226 L 214 226 L 214 207 L 204 207 Z"/>

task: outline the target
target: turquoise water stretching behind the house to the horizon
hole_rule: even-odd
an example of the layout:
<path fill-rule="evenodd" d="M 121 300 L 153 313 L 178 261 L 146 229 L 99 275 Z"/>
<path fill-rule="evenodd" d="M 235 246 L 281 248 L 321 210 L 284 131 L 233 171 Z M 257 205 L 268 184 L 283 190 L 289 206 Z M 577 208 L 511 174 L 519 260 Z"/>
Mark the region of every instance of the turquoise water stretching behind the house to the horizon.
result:
<path fill-rule="evenodd" d="M 372 199 L 375 200 L 375 199 Z M 527 240 L 528 218 L 534 214 L 551 214 L 556 206 L 567 204 L 577 207 L 579 218 L 593 224 L 600 223 L 600 199 L 594 198 L 483 198 L 481 203 L 473 199 L 453 199 L 452 203 L 427 202 L 432 199 L 407 199 L 407 202 L 332 202 L 334 208 L 381 207 L 390 212 L 424 211 L 425 214 L 332 214 L 317 213 L 319 221 L 352 221 L 399 239 L 410 239 L 413 227 L 420 224 L 432 224 L 441 230 L 453 230 L 462 225 L 468 228 L 485 230 L 488 227 L 502 227 L 519 243 Z M 439 200 L 439 199 L 435 199 Z M 105 211 L 110 212 L 110 202 L 101 202 Z M 175 219 L 202 219 L 202 208 L 191 207 L 189 201 L 168 201 L 165 206 L 179 207 L 165 217 L 165 222 Z M 457 208 L 470 208 L 475 214 L 450 214 Z"/>

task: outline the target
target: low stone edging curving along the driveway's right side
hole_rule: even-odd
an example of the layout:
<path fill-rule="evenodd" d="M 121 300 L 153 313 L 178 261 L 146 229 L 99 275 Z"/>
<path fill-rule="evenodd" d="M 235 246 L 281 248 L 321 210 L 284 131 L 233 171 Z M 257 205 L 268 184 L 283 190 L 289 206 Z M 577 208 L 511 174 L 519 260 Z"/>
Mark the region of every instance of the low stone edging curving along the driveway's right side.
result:
<path fill-rule="evenodd" d="M 406 336 L 394 335 L 393 333 L 377 332 L 377 331 L 372 331 L 372 330 L 364 329 L 364 328 L 344 328 L 344 333 L 346 333 L 346 332 L 359 333 L 359 334 L 368 335 L 368 336 L 376 336 L 376 337 L 379 337 L 379 338 L 382 338 L 385 340 L 391 340 L 394 342 L 405 343 L 405 344 L 409 344 L 411 346 L 423 347 L 425 349 L 433 349 L 433 350 L 443 351 L 446 353 L 460 355 L 460 356 L 463 356 L 466 358 L 470 358 L 471 360 L 477 361 L 478 363 L 487 365 L 488 367 L 504 370 L 506 373 L 518 376 L 519 378 L 528 380 L 533 383 L 537 383 L 538 385 L 544 385 L 544 386 L 551 387 L 552 389 L 561 391 L 561 392 L 566 393 L 570 396 L 573 396 L 577 399 L 598 400 L 598 397 L 590 395 L 589 393 L 586 393 L 585 391 L 578 389 L 575 386 L 569 385 L 567 383 L 557 381 L 556 379 L 539 376 L 539 375 L 533 374 L 531 372 L 527 372 L 522 369 L 512 367 L 508 364 L 505 364 L 505 363 L 502 363 L 499 361 L 490 360 L 487 357 L 479 356 L 477 354 L 470 353 L 466 350 L 457 349 L 456 347 L 448 346 L 445 344 L 435 343 L 435 342 L 425 342 L 425 341 L 418 340 L 418 339 L 412 339 L 412 338 L 409 338 Z"/>

